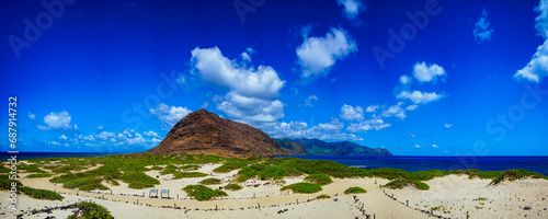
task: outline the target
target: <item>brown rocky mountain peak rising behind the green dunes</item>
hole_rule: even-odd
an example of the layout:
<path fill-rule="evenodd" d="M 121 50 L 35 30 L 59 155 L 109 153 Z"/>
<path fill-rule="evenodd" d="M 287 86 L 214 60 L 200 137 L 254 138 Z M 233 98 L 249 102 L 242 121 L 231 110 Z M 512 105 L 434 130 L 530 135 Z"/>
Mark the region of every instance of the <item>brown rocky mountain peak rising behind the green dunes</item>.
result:
<path fill-rule="evenodd" d="M 179 120 L 159 146 L 145 153 L 272 157 L 285 152 L 262 130 L 202 108 Z"/>

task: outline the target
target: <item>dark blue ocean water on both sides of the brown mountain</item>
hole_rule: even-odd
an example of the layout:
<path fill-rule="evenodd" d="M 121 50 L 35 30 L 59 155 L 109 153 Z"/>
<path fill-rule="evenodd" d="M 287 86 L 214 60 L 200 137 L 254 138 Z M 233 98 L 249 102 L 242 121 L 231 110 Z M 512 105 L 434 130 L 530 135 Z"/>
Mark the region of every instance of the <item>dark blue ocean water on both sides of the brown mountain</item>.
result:
<path fill-rule="evenodd" d="M 103 157 L 133 152 L 19 152 L 18 160 L 43 158 Z M 1 159 L 9 159 L 3 151 Z M 430 155 L 284 155 L 309 160 L 330 160 L 349 166 L 363 169 L 391 168 L 409 172 L 427 170 L 504 171 L 525 169 L 548 175 L 547 155 L 489 155 L 489 157 L 430 157 Z"/>

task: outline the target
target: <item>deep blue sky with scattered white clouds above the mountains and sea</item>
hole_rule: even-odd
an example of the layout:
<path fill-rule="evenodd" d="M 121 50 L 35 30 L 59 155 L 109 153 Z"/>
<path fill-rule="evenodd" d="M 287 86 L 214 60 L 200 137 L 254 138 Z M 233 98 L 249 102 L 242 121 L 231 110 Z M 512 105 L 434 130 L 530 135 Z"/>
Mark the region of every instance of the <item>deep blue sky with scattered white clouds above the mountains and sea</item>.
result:
<path fill-rule="evenodd" d="M 144 151 L 206 108 L 398 155 L 548 155 L 547 1 L 4 4 L 21 151 Z"/>

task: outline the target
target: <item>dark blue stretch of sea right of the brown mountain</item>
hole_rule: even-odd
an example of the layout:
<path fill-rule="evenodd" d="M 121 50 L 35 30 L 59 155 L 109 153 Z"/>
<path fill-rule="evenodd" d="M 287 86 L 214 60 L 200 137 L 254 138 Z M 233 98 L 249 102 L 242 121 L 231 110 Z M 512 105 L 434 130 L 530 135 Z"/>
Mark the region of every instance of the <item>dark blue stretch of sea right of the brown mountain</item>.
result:
<path fill-rule="evenodd" d="M 310 160 L 331 160 L 364 169 L 395 168 L 416 172 L 432 169 L 504 171 L 525 169 L 548 175 L 548 157 L 368 157 L 368 155 L 290 155 Z"/>

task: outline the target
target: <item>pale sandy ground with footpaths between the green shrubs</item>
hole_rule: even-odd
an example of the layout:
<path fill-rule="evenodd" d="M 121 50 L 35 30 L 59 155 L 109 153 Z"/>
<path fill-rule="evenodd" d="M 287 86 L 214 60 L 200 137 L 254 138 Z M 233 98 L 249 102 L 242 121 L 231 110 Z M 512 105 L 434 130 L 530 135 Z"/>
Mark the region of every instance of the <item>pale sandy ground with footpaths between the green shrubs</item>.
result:
<path fill-rule="evenodd" d="M 115 218 L 365 218 L 364 214 L 372 216 L 375 214 L 376 218 L 429 218 L 426 214 L 414 208 L 430 210 L 430 207 L 445 206 L 450 214 L 443 214 L 443 216 L 452 218 L 466 218 L 466 211 L 469 211 L 471 218 L 522 218 L 525 215 L 528 218 L 548 218 L 548 211 L 544 210 L 548 207 L 548 200 L 541 199 L 548 199 L 548 181 L 546 180 L 522 180 L 488 186 L 490 181 L 487 180 L 468 180 L 467 176 L 449 175 L 426 182 L 431 186 L 430 191 L 419 191 L 412 187 L 396 191 L 386 188 L 386 193 L 393 194 L 397 200 L 386 196 L 383 193 L 385 189 L 378 188 L 378 184 L 389 182 L 381 178 L 333 178 L 333 183 L 322 186 L 323 191 L 316 194 L 279 192 L 282 186 L 272 185 L 270 181 L 250 180 L 240 184 L 244 186 L 243 189 L 227 191 L 229 196 L 221 199 L 216 198 L 209 201 L 187 199 L 186 193 L 181 191 L 186 185 L 197 184 L 207 177 L 217 177 L 222 180 L 222 184 L 209 187 L 218 188 L 233 180 L 232 175 L 237 171 L 224 174 L 213 173 L 213 170 L 219 165 L 202 165 L 197 172 L 210 175 L 196 178 L 173 180 L 172 175 L 161 175 L 158 171 L 146 172 L 152 177 L 158 175 L 161 184 L 156 188 L 169 188 L 170 197 L 174 199 L 149 198 L 150 188 L 132 189 L 127 188 L 127 184 L 123 182 L 119 182 L 119 186 L 105 184 L 112 188 L 114 195 L 110 195 L 110 191 L 103 191 L 99 192 L 101 194 L 78 192 L 77 196 L 76 191 L 54 185 L 49 183 L 49 178 L 23 178 L 22 183 L 25 185 L 61 193 L 65 200 L 37 200 L 23 195 L 19 198 L 18 209 L 30 214 L 32 209 L 66 206 L 79 200 L 93 200 L 109 208 Z M 25 175 L 27 174 L 20 176 Z M 302 178 L 304 176 L 286 177 L 284 181 L 292 184 L 302 182 Z M 378 184 L 375 184 L 375 181 Z M 356 195 L 357 200 L 354 199 L 354 195 L 344 195 L 343 192 L 352 186 L 363 187 L 367 193 Z M 140 196 L 142 193 L 146 197 L 133 196 Z M 315 199 L 322 194 L 330 195 L 331 198 Z M 175 199 L 178 195 L 179 199 Z M 9 193 L 0 192 L 0 212 L 7 212 L 10 217 L 21 214 L 20 211 L 11 212 L 8 209 L 8 201 L 5 201 L 8 196 Z M 105 199 L 102 199 L 103 197 Z M 472 200 L 478 197 L 486 197 L 488 200 Z M 409 207 L 401 204 L 406 200 L 409 200 Z M 533 209 L 523 210 L 525 205 L 530 205 Z M 162 206 L 170 208 L 162 208 Z M 481 206 L 483 209 L 476 209 L 475 206 Z M 181 209 L 173 209 L 173 207 Z M 215 210 L 216 208 L 218 210 Z M 285 209 L 287 210 L 284 211 Z M 279 211 L 283 212 L 278 214 Z M 70 210 L 55 210 L 49 215 L 66 218 L 70 214 Z M 435 211 L 435 215 L 441 214 Z M 46 216 L 48 214 L 25 216 L 25 218 L 45 218 Z"/>

